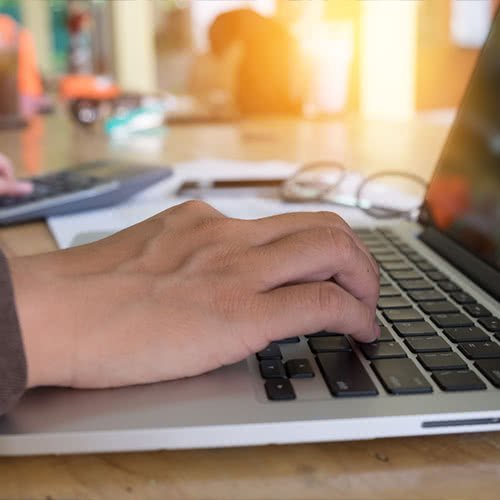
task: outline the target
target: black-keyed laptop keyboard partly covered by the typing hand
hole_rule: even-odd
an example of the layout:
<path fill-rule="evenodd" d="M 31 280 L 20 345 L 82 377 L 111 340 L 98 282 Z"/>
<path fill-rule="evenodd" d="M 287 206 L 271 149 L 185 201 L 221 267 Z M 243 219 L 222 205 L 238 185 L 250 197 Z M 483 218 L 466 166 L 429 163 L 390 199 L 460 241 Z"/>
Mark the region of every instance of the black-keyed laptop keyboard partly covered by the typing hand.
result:
<path fill-rule="evenodd" d="M 271 343 L 256 354 L 267 398 L 296 399 L 295 381 L 315 377 L 336 398 L 500 388 L 500 318 L 390 229 L 356 232 L 380 265 L 380 338 L 318 332 Z M 290 357 L 287 344 L 304 356 Z"/>

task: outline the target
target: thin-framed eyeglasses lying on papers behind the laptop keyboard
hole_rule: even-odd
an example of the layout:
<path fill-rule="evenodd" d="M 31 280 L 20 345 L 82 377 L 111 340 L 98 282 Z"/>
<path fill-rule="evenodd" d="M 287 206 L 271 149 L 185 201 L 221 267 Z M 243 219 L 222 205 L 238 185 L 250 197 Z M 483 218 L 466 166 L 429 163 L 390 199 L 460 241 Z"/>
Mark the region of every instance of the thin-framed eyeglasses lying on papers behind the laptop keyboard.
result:
<path fill-rule="evenodd" d="M 328 202 L 356 207 L 378 219 L 414 219 L 427 183 L 403 171 L 380 171 L 369 176 L 347 170 L 336 161 L 303 165 L 281 186 L 281 197 L 291 202 Z"/>

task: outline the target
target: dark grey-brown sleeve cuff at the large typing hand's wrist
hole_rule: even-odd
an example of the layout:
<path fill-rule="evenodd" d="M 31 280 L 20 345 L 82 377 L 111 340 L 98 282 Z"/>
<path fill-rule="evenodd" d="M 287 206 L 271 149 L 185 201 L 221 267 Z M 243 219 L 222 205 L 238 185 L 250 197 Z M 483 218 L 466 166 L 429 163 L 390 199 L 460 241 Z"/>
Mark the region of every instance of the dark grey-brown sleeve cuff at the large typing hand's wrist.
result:
<path fill-rule="evenodd" d="M 26 389 L 27 369 L 7 259 L 0 251 L 0 415 Z"/>

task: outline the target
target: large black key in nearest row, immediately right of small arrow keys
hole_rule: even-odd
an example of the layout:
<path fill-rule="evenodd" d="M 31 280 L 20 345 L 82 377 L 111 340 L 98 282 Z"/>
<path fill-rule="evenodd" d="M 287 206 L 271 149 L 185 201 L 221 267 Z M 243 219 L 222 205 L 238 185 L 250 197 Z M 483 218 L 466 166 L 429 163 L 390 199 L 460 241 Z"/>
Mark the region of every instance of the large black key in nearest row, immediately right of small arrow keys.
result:
<path fill-rule="evenodd" d="M 318 354 L 317 362 L 333 396 L 376 396 L 378 394 L 365 367 L 353 352 Z"/>

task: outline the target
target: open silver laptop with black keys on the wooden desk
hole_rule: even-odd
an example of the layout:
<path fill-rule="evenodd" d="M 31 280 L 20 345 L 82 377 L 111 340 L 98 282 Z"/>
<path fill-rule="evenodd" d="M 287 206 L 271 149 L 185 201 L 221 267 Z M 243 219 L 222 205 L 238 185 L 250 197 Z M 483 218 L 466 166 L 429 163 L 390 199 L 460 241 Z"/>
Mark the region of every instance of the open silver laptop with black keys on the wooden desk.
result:
<path fill-rule="evenodd" d="M 500 431 L 498 88 L 499 17 L 418 221 L 357 229 L 381 266 L 378 342 L 318 332 L 194 378 L 35 389 L 0 419 L 0 454 Z"/>

